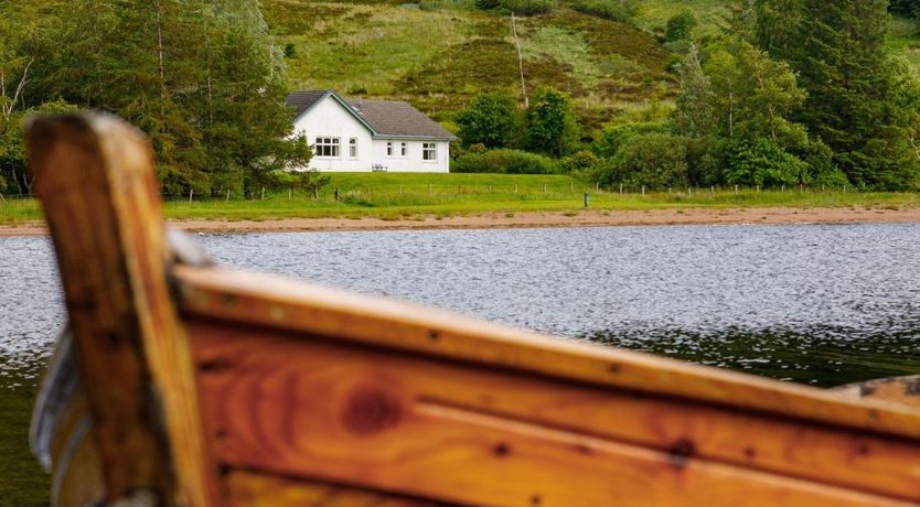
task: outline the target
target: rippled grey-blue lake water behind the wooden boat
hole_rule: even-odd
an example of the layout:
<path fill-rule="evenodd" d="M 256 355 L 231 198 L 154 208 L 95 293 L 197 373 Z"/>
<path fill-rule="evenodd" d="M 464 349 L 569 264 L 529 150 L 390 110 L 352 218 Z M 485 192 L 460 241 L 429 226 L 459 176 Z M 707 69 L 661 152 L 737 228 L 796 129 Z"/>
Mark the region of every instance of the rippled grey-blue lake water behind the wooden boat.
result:
<path fill-rule="evenodd" d="M 918 224 L 200 239 L 223 263 L 566 339 L 820 386 L 920 373 Z M 0 457 L 0 506 L 41 505 L 34 490 L 46 490 L 23 439 L 36 374 L 63 322 L 50 240 L 0 238 L 0 455 L 9 456 Z"/>

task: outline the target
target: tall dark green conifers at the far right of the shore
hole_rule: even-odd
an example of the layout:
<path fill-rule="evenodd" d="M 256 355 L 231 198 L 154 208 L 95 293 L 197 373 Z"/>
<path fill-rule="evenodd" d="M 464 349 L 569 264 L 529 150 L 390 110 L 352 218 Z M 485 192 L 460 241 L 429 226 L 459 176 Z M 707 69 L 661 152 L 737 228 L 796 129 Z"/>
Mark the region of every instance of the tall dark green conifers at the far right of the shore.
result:
<path fill-rule="evenodd" d="M 886 0 L 760 0 L 756 41 L 807 93 L 793 118 L 826 143 L 851 182 L 916 184 L 917 78 L 885 45 Z"/>

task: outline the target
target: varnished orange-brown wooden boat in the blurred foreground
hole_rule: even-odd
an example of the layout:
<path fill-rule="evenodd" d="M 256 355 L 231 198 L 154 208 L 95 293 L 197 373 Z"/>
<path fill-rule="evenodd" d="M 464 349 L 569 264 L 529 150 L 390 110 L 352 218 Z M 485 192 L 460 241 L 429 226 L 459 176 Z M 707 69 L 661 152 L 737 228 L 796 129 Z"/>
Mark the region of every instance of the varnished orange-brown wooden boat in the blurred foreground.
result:
<path fill-rule="evenodd" d="M 83 467 L 52 451 L 89 492 L 57 505 L 920 503 L 911 407 L 211 266 L 165 246 L 126 127 L 50 119 L 30 139 L 99 477 L 67 482 Z"/>

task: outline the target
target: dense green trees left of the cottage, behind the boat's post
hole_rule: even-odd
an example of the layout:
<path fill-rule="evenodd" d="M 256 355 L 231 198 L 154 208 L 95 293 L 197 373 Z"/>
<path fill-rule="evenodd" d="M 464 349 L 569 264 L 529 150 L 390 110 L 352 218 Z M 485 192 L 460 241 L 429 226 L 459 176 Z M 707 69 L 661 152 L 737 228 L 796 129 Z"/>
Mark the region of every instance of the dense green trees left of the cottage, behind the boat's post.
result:
<path fill-rule="evenodd" d="M 164 193 L 277 186 L 311 155 L 285 85 L 257 0 L 0 2 L 0 191 L 31 192 L 23 118 L 77 109 L 143 130 Z"/>

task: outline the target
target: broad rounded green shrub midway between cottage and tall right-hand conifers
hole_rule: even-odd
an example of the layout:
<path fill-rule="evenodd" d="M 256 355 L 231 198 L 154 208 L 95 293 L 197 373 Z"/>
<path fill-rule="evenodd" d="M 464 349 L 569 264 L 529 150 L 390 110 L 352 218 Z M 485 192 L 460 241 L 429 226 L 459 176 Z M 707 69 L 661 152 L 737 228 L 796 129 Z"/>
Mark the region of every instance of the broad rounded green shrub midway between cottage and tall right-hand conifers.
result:
<path fill-rule="evenodd" d="M 648 133 L 630 139 L 599 170 L 606 185 L 665 188 L 687 184 L 686 138 L 668 133 Z"/>

